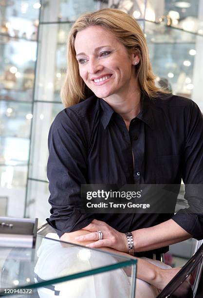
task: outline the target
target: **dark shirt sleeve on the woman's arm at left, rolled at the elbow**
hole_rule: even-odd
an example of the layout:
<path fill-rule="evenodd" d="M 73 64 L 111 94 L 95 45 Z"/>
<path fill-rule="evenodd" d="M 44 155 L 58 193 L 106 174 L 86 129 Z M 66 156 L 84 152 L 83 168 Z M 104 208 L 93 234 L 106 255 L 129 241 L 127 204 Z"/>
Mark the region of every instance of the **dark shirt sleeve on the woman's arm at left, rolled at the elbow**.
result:
<path fill-rule="evenodd" d="M 91 214 L 82 214 L 80 185 L 86 184 L 87 147 L 84 119 L 71 108 L 60 112 L 49 131 L 50 219 L 59 237 L 91 223 Z"/>

